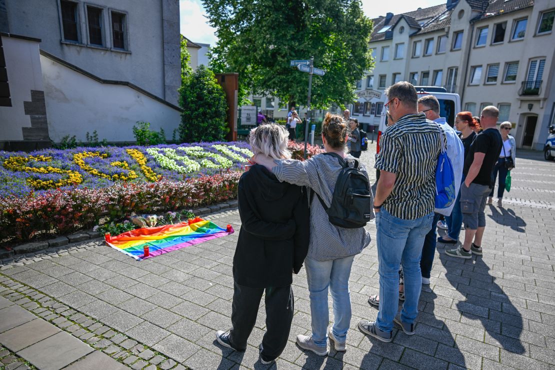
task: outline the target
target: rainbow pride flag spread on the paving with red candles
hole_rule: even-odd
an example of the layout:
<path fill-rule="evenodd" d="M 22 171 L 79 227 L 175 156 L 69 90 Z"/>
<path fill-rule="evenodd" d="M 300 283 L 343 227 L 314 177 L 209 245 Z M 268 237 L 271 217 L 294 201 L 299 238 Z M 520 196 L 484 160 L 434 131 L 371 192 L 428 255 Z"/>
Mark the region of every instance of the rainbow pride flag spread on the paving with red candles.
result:
<path fill-rule="evenodd" d="M 142 261 L 233 232 L 231 225 L 223 229 L 211 221 L 196 217 L 174 225 L 143 227 L 118 236 L 106 234 L 104 239 L 110 247 Z M 148 247 L 148 254 L 145 254 L 145 247 Z"/>

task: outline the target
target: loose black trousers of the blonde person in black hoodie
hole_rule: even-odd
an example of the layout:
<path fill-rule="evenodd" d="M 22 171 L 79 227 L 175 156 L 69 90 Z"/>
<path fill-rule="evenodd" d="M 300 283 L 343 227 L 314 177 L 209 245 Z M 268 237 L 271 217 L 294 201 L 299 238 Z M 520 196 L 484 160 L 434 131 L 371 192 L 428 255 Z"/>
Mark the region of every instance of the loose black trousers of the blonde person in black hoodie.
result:
<path fill-rule="evenodd" d="M 233 305 L 231 307 L 231 346 L 239 351 L 246 349 L 246 341 L 253 331 L 258 315 L 262 293 L 266 290 L 266 333 L 262 339 L 265 361 L 271 361 L 285 349 L 291 322 L 293 321 L 294 298 L 290 285 L 276 288 L 251 288 L 234 282 Z"/>

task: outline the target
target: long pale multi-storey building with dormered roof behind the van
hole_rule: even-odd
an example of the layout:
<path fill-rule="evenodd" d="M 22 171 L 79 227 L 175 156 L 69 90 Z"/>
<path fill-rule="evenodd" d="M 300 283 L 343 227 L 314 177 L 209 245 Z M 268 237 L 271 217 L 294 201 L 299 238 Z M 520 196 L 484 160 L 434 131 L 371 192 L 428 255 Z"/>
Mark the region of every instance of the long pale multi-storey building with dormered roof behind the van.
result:
<path fill-rule="evenodd" d="M 543 150 L 555 124 L 555 0 L 459 0 L 374 19 L 374 70 L 359 82 L 352 116 L 377 126 L 384 89 L 441 86 L 462 110 L 499 108 L 519 148 Z"/>

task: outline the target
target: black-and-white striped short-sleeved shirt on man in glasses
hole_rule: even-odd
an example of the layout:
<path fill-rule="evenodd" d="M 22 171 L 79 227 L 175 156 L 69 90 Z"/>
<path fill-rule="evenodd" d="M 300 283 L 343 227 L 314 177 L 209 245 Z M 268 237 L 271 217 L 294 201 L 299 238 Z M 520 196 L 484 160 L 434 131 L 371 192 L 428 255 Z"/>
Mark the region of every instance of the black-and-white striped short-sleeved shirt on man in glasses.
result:
<path fill-rule="evenodd" d="M 435 171 L 441 141 L 447 137 L 424 113 L 407 114 L 389 126 L 380 139 L 374 168 L 396 175 L 384 207 L 403 220 L 416 220 L 433 212 Z"/>

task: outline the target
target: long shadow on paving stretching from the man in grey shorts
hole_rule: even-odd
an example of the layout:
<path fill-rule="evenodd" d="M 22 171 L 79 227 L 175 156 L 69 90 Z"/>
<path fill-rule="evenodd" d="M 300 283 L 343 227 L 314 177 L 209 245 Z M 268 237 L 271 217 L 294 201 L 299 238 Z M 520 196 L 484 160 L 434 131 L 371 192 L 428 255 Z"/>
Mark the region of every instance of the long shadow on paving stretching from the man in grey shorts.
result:
<path fill-rule="evenodd" d="M 460 260 L 455 261 L 457 259 L 445 255 L 443 251 L 440 251 L 440 260 L 447 271 L 445 274 L 447 280 L 455 289 L 461 291 L 458 288 L 458 284 L 462 284 L 461 276 L 449 271 L 461 268 L 461 265 L 468 266 L 469 264 L 461 263 Z M 506 351 L 518 354 L 524 353 L 526 350 L 519 339 L 523 330 L 521 313 L 514 307 L 503 289 L 497 285 L 496 277 L 490 275 L 490 266 L 486 265 L 482 256 L 475 256 L 472 260 L 472 270 L 468 270 L 468 268 L 463 270 L 475 273 L 476 277 L 471 278 L 471 285 L 468 286 L 468 289 L 465 288 L 465 291 L 462 291 L 466 300 L 457 302 L 458 311 L 470 320 L 480 320 L 486 332 Z M 462 262 L 466 261 L 463 260 Z M 468 291 L 470 290 L 472 292 L 469 297 Z M 492 295 L 496 296 L 495 300 L 492 300 Z M 511 327 L 511 330 L 504 331 L 503 335 L 500 333 L 501 322 L 503 322 L 503 331 L 505 323 L 508 322 Z"/>

